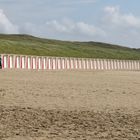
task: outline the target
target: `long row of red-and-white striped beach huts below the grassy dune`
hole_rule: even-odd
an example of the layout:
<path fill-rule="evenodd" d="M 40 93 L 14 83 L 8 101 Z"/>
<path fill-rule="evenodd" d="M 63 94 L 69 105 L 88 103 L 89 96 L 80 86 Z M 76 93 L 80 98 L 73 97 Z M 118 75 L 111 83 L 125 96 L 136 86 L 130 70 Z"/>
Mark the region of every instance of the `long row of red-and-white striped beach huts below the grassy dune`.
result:
<path fill-rule="evenodd" d="M 24 55 L 0 55 L 2 69 L 33 70 L 140 70 L 140 60 L 90 59 Z"/>

